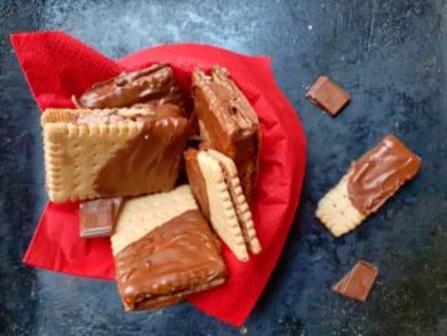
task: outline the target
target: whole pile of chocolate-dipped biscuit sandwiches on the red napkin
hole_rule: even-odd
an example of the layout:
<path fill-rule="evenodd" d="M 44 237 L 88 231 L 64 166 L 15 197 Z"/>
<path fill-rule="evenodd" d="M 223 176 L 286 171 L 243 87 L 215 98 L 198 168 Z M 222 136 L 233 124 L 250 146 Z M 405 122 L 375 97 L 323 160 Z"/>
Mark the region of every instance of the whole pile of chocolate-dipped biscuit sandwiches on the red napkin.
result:
<path fill-rule="evenodd" d="M 195 70 L 191 94 L 189 110 L 173 69 L 155 64 L 41 118 L 48 196 L 80 203 L 81 238 L 110 237 L 128 311 L 223 284 L 221 241 L 241 262 L 261 252 L 257 115 L 219 66 Z"/>

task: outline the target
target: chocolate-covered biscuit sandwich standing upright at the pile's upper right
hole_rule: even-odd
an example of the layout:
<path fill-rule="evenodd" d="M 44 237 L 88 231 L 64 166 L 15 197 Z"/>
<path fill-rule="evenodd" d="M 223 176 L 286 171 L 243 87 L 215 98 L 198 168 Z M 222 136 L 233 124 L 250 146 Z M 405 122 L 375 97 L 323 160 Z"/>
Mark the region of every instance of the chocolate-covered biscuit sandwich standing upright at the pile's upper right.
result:
<path fill-rule="evenodd" d="M 193 72 L 195 113 L 213 149 L 235 161 L 243 193 L 250 203 L 257 179 L 261 132 L 259 120 L 247 98 L 228 78 L 225 69 L 214 67 L 210 76 Z"/>

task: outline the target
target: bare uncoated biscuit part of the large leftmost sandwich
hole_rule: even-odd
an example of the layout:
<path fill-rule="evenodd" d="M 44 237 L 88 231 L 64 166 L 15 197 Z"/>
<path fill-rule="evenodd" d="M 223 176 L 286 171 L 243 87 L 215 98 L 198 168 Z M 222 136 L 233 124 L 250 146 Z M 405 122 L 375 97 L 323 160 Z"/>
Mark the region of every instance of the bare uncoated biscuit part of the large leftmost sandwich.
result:
<path fill-rule="evenodd" d="M 76 125 L 89 110 L 48 109 L 41 118 L 48 196 L 52 202 L 98 198 L 94 180 L 109 158 L 137 136 L 143 123 Z"/>

